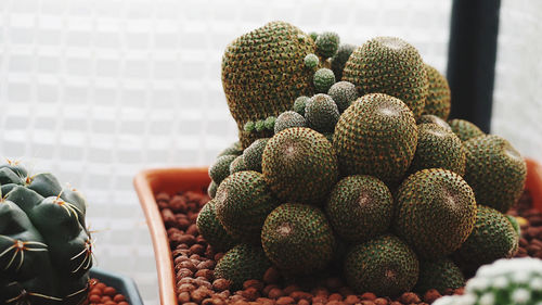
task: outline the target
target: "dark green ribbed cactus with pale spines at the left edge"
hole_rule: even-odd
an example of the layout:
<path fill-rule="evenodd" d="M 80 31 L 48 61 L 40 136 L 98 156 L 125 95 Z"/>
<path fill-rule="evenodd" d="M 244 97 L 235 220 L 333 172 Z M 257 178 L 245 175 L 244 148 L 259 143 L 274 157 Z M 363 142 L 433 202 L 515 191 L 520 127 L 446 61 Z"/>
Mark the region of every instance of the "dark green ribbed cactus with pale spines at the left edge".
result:
<path fill-rule="evenodd" d="M 0 166 L 0 303 L 81 304 L 92 240 L 86 201 L 51 174 Z"/>

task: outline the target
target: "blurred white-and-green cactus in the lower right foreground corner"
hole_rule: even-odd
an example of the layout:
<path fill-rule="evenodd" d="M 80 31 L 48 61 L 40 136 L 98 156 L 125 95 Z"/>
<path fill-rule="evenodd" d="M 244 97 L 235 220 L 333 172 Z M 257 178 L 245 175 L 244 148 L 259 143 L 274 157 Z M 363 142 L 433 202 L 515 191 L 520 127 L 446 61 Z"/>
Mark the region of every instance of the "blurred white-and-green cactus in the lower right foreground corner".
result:
<path fill-rule="evenodd" d="M 499 259 L 480 267 L 467 282 L 464 295 L 444 296 L 434 305 L 540 305 L 542 260 L 524 257 Z"/>

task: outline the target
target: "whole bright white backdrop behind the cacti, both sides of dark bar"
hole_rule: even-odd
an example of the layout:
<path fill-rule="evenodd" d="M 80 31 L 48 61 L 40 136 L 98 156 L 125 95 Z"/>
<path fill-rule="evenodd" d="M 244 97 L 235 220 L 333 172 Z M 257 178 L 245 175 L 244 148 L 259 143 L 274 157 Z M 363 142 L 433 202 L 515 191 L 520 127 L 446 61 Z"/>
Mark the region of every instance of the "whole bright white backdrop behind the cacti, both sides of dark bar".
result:
<path fill-rule="evenodd" d="M 540 1 L 505 0 L 493 131 L 542 158 Z M 0 1 L 0 156 L 81 190 L 98 265 L 158 304 L 152 243 L 132 189 L 150 167 L 208 165 L 235 141 L 220 60 L 273 20 L 361 45 L 401 37 L 446 72 L 451 1 Z"/>

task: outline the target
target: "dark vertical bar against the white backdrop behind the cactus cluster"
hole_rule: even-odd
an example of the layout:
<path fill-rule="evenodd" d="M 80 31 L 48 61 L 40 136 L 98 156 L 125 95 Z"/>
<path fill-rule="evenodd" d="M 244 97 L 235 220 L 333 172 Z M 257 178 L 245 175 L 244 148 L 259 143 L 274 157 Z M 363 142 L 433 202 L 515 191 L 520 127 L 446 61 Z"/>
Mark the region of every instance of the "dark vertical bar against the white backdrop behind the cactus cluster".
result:
<path fill-rule="evenodd" d="M 489 132 L 500 0 L 454 0 L 448 50 L 452 118 Z"/>

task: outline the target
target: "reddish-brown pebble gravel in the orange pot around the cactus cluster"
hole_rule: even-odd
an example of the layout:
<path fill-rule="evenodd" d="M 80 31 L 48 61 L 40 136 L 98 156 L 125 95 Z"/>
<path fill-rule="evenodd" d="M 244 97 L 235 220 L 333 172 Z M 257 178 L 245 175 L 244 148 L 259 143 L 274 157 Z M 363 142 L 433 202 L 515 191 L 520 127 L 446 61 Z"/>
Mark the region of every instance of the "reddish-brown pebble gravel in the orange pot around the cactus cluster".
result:
<path fill-rule="evenodd" d="M 371 292 L 356 294 L 337 276 L 298 280 L 296 283 L 281 278 L 273 267 L 262 281 L 248 280 L 243 290 L 230 291 L 230 282 L 215 279 L 214 269 L 223 253 L 217 253 L 198 233 L 196 218 L 202 206 L 209 201 L 204 193 L 183 192 L 175 195 L 158 193 L 156 202 L 167 229 L 177 278 L 179 304 L 363 304 L 400 305 L 430 304 L 441 294 L 428 290 L 423 294 L 406 292 L 397 297 L 377 297 Z M 524 192 L 511 215 L 519 216 L 521 239 L 516 257 L 542 258 L 542 213 L 532 208 L 529 193 Z M 330 267 L 333 269 L 333 267 Z M 337 269 L 337 267 L 335 267 Z M 336 270 L 335 270 L 336 271 Z M 463 294 L 463 288 L 444 294 Z"/>

